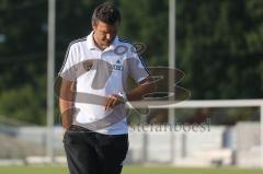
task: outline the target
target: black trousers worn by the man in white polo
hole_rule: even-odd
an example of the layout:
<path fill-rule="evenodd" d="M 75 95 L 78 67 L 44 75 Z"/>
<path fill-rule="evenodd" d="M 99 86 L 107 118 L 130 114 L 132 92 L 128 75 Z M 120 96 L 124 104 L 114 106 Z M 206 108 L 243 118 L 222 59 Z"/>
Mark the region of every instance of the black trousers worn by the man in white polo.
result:
<path fill-rule="evenodd" d="M 64 147 L 70 174 L 121 174 L 128 135 L 102 135 L 72 125 Z"/>

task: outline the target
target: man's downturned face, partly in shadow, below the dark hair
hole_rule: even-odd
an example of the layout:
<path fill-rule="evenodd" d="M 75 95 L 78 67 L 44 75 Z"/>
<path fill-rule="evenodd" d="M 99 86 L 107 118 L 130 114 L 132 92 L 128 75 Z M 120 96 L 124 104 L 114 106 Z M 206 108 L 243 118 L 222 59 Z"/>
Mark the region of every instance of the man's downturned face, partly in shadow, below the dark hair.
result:
<path fill-rule="evenodd" d="M 100 48 L 108 47 L 117 35 L 118 22 L 113 25 L 99 21 L 93 26 L 94 39 Z"/>

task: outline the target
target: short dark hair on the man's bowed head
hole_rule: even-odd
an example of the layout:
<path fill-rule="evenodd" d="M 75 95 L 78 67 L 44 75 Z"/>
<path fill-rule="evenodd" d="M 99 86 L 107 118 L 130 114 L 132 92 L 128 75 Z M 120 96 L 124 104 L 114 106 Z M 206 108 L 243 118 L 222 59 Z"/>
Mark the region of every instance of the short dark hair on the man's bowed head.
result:
<path fill-rule="evenodd" d="M 104 2 L 95 8 L 91 22 L 95 25 L 99 21 L 113 25 L 121 22 L 121 13 L 112 2 Z"/>

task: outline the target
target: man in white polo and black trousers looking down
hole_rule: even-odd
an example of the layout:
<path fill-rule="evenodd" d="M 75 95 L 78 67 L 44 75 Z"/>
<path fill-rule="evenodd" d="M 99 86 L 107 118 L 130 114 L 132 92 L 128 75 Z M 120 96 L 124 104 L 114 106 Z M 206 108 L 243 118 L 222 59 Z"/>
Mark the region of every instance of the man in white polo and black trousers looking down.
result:
<path fill-rule="evenodd" d="M 117 36 L 119 11 L 108 2 L 92 15 L 93 31 L 72 42 L 59 72 L 59 107 L 70 174 L 121 174 L 128 150 L 125 103 L 153 88 L 133 45 Z M 130 76 L 138 86 L 127 91 Z"/>

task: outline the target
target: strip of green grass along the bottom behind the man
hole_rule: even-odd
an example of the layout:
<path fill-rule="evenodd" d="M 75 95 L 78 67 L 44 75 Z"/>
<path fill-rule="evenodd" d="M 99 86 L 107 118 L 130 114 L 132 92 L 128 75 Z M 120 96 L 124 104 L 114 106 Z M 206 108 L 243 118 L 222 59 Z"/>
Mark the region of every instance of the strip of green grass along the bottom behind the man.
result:
<path fill-rule="evenodd" d="M 66 166 L 1 166 L 1 174 L 68 174 Z M 262 170 L 125 166 L 122 174 L 262 174 Z"/>

